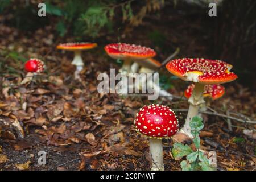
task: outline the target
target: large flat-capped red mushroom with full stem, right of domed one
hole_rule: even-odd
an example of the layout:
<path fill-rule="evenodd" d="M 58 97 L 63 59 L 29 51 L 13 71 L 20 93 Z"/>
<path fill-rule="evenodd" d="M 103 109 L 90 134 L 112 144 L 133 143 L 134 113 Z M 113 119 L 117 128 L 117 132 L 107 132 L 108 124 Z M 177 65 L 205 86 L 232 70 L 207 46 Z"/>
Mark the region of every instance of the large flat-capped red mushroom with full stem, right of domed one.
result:
<path fill-rule="evenodd" d="M 224 84 L 236 80 L 237 75 L 230 72 L 232 65 L 220 60 L 209 59 L 175 59 L 166 68 L 169 72 L 185 81 L 195 82 L 185 125 L 180 130 L 192 138 L 189 122 L 198 114 L 199 105 L 204 103 L 203 92 L 205 84 Z"/>

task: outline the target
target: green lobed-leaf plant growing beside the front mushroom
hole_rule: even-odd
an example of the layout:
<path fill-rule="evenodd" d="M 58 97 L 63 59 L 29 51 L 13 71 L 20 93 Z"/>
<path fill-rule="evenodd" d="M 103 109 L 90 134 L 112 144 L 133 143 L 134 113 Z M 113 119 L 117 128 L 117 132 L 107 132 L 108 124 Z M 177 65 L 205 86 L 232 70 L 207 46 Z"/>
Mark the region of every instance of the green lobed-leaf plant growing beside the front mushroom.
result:
<path fill-rule="evenodd" d="M 182 143 L 174 143 L 174 148 L 172 148 L 172 155 L 175 160 L 180 160 L 186 156 L 186 160 L 181 161 L 180 165 L 183 171 L 214 171 L 213 167 L 207 156 L 204 155 L 200 148 L 200 130 L 203 129 L 203 119 L 196 116 L 193 117 L 189 126 L 191 127 L 191 134 L 193 135 L 193 143 L 195 144 L 196 151 L 193 151 L 188 145 Z"/>

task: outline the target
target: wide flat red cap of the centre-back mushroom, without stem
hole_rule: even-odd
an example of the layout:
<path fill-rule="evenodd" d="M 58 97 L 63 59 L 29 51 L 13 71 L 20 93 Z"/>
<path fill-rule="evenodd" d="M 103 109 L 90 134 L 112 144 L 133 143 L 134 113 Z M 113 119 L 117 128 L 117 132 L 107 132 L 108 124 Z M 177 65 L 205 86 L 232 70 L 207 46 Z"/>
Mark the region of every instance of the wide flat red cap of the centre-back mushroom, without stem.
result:
<path fill-rule="evenodd" d="M 147 59 L 156 55 L 153 49 L 135 44 L 113 43 L 104 49 L 113 59 Z"/>

